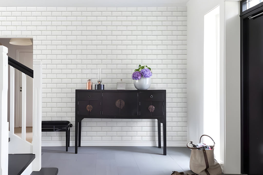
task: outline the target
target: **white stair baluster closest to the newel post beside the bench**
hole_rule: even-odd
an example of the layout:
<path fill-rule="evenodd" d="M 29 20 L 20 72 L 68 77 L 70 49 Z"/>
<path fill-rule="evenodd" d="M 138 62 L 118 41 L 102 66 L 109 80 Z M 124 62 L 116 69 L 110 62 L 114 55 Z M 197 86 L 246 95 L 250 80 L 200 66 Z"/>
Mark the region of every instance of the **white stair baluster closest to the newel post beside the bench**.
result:
<path fill-rule="evenodd" d="M 22 139 L 26 140 L 27 77 L 22 73 Z"/>

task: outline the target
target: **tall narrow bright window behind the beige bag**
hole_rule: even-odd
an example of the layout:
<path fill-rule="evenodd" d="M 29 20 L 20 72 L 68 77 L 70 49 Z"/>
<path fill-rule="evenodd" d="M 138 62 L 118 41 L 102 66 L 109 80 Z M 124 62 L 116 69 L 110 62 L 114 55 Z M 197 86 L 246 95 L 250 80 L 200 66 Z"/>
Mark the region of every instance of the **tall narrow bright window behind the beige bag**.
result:
<path fill-rule="evenodd" d="M 220 160 L 219 101 L 219 6 L 204 16 L 204 134 L 216 144 L 216 159 Z M 205 143 L 211 139 L 204 138 Z"/>

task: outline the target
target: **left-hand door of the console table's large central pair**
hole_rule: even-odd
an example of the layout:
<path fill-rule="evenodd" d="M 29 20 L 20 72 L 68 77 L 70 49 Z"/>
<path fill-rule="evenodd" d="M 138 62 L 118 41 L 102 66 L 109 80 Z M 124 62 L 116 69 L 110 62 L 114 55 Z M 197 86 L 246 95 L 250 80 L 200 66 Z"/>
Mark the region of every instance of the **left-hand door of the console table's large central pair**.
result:
<path fill-rule="evenodd" d="M 119 116 L 120 109 L 116 107 L 115 102 L 119 99 L 119 92 L 103 92 L 102 108 L 103 115 Z"/>

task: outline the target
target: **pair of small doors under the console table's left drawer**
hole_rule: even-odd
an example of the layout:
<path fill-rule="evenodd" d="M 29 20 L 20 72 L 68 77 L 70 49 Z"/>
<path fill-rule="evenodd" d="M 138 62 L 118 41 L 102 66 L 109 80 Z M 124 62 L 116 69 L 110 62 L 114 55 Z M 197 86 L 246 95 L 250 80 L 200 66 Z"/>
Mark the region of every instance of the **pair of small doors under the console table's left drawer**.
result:
<path fill-rule="evenodd" d="M 101 102 L 100 101 L 78 101 L 79 115 L 100 115 Z"/>

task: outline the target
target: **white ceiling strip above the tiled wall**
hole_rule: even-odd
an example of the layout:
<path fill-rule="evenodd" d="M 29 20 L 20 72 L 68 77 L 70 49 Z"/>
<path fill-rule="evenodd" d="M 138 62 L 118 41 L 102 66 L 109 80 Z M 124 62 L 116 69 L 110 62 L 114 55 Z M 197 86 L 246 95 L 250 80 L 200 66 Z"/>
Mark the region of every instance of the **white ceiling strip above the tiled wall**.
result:
<path fill-rule="evenodd" d="M 1 7 L 176 7 L 189 0 L 4 0 Z"/>

